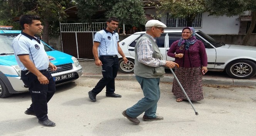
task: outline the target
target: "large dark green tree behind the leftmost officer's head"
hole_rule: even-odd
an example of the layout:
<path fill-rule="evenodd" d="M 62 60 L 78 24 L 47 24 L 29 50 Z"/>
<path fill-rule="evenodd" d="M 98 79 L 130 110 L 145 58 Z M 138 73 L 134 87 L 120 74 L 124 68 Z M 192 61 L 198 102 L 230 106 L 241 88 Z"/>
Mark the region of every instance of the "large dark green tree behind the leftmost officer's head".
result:
<path fill-rule="evenodd" d="M 49 33 L 56 22 L 64 20 L 65 7 L 74 5 L 73 0 L 0 0 L 0 19 L 10 21 L 23 14 L 39 15 L 44 25 L 43 40 L 49 43 Z"/>

